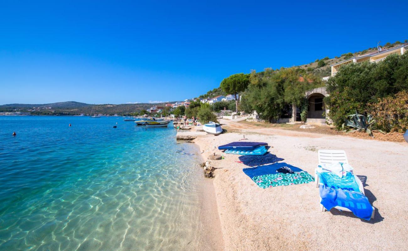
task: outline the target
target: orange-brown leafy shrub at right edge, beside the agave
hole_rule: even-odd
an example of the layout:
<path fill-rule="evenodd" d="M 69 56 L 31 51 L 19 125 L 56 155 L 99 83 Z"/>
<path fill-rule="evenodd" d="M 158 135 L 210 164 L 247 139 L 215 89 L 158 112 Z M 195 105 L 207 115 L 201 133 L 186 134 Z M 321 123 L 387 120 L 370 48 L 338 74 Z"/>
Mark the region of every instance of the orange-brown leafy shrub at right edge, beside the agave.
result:
<path fill-rule="evenodd" d="M 378 128 L 402 133 L 408 129 L 408 92 L 404 90 L 395 96 L 378 99 L 377 103 L 369 105 L 368 112 L 375 118 Z"/>

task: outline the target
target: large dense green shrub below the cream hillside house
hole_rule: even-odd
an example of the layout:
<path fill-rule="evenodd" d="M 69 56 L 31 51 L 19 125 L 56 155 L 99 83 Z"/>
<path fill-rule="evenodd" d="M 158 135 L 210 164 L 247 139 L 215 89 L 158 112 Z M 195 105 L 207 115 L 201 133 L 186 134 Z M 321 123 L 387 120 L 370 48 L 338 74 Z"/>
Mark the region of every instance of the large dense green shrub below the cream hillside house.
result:
<path fill-rule="evenodd" d="M 377 103 L 378 98 L 408 90 L 406 69 L 408 53 L 390 55 L 379 63 L 352 63 L 340 67 L 337 74 L 328 79 L 330 96 L 324 99 L 333 124 L 340 129 L 344 118 L 356 110 L 367 111 L 368 103 Z"/>

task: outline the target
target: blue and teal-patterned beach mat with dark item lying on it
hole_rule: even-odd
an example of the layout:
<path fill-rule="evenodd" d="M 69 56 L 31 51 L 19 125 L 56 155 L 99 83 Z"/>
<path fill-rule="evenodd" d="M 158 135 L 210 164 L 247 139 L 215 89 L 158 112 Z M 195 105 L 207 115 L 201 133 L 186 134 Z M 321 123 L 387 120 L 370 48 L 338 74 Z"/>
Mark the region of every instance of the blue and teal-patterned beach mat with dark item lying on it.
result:
<path fill-rule="evenodd" d="M 279 173 L 277 169 L 288 167 L 295 173 Z M 295 184 L 305 184 L 314 182 L 315 177 L 299 167 L 294 167 L 287 163 L 275 163 L 260 167 L 245 168 L 242 171 L 251 178 L 258 187 L 268 188 L 277 186 L 289 186 Z"/>

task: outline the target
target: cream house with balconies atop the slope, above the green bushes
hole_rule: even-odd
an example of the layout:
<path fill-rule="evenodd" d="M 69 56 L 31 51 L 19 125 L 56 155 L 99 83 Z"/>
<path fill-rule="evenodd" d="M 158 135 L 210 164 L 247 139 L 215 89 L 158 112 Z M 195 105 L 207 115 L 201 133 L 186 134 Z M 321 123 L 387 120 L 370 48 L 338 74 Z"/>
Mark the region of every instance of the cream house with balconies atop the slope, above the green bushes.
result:
<path fill-rule="evenodd" d="M 347 60 L 343 60 L 341 62 L 338 62 L 337 64 L 331 65 L 331 76 L 335 76 L 337 71 L 339 71 L 340 67 L 345 65 L 345 64 L 350 64 L 350 63 L 359 63 L 359 62 L 380 62 L 384 60 L 388 55 L 391 54 L 404 54 L 408 50 L 408 43 L 401 44 L 397 47 L 391 48 L 391 49 L 381 49 L 376 52 L 368 53 L 365 55 L 359 55 L 355 56 L 353 58 L 349 58 Z"/>

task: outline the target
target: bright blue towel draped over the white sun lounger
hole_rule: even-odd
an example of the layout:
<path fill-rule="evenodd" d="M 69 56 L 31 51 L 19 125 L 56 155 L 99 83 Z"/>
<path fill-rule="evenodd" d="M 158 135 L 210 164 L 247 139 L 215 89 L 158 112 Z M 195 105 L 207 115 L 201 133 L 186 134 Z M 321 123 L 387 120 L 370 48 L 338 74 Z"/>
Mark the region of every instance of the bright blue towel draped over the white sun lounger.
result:
<path fill-rule="evenodd" d="M 367 197 L 360 192 L 333 189 L 326 185 L 319 187 L 320 202 L 327 210 L 340 206 L 350 209 L 359 218 L 370 220 L 373 207 Z"/>

